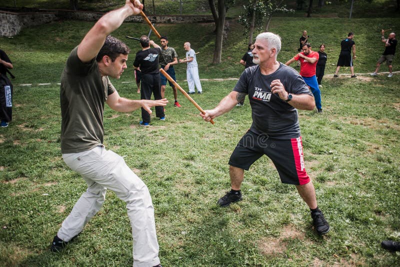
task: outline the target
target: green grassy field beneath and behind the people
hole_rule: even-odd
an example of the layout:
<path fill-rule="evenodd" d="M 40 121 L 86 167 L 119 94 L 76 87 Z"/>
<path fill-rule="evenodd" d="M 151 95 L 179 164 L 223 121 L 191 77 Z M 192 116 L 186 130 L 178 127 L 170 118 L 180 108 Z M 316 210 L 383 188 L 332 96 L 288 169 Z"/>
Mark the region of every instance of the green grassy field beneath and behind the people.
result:
<path fill-rule="evenodd" d="M 274 18 L 270 31 L 282 38 L 282 62 L 296 53 L 303 29 L 311 44 L 325 43 L 326 74 L 333 74 L 340 40 L 354 31 L 355 72 L 368 73 L 383 51 L 379 30 L 400 29 L 399 24 L 396 19 Z M 60 155 L 56 83 L 70 50 L 92 25 L 56 22 L 0 38 L 17 77 L 12 81 L 13 121 L 0 128 L 0 265 L 132 264 L 124 203 L 110 191 L 98 214 L 63 252 L 49 251 L 60 223 L 86 188 Z M 183 43 L 192 43 L 200 52 L 200 78 L 238 78 L 243 69 L 238 61 L 246 38 L 235 21 L 229 22 L 218 66 L 210 63 L 212 24 L 157 25 L 157 30 L 168 35 L 179 57 Z M 124 36 L 147 33 L 144 24 L 124 24 L 114 33 L 132 49 L 128 65 L 139 47 Z M 397 54 L 393 71 L 400 70 L 398 62 Z M 187 89 L 185 66 L 178 65 L 176 73 Z M 129 68 L 112 83 L 121 96 L 138 99 L 132 79 Z M 168 104 L 166 121 L 153 118 L 148 128 L 138 126 L 138 111 L 122 114 L 106 107 L 104 144 L 124 156 L 150 190 L 164 266 L 394 266 L 400 255 L 380 248 L 380 241 L 400 240 L 399 82 L 398 74 L 391 79 L 327 76 L 321 88 L 324 113 L 299 111 L 305 165 L 332 227 L 323 237 L 312 231 L 309 210 L 295 188 L 280 183 L 266 157 L 245 172 L 243 201 L 228 208 L 215 205 L 229 189 L 230 153 L 251 124 L 247 99 L 213 126 L 181 95 L 182 108 Z M 32 86 L 21 86 L 26 83 Z M 193 98 L 203 109 L 212 108 L 234 84 L 202 82 L 204 93 Z M 166 96 L 172 99 L 169 88 Z"/>

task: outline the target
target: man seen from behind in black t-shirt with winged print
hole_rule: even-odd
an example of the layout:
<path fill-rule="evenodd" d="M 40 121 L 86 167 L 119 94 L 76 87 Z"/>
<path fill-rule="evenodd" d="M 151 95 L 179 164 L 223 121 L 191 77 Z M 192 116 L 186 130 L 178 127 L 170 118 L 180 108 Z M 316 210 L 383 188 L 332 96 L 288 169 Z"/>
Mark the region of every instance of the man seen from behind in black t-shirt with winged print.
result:
<path fill-rule="evenodd" d="M 140 99 L 149 100 L 151 99 L 151 94 L 153 94 L 154 100 L 160 100 L 162 97 L 158 55 L 161 53 L 161 48 L 145 35 L 140 37 L 140 46 L 141 50 L 136 53 L 133 62 L 133 68 L 140 68 L 141 70 Z M 153 48 L 150 48 L 150 46 L 153 46 Z M 155 116 L 161 121 L 165 120 L 164 108 L 156 106 Z M 141 108 L 141 118 L 140 126 L 150 126 L 150 112 Z"/>

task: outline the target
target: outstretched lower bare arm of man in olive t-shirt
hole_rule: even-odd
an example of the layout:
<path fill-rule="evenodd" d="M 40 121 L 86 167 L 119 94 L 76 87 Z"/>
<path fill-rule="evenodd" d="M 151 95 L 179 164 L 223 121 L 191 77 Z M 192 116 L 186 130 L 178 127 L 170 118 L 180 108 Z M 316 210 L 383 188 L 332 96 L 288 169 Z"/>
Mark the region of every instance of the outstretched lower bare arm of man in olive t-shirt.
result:
<path fill-rule="evenodd" d="M 150 108 L 154 106 L 166 106 L 168 101 L 166 98 L 160 100 L 130 100 L 127 98 L 120 97 L 118 92 L 115 91 L 108 96 L 107 105 L 118 112 L 132 112 L 139 108 L 144 108 L 149 114 L 151 114 Z"/>

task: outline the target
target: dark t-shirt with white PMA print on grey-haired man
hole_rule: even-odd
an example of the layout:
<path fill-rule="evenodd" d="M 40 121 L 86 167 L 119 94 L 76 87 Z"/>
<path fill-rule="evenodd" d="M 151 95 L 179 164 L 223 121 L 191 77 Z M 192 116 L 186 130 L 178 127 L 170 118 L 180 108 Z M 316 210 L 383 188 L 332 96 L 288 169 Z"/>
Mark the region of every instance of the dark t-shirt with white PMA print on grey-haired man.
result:
<path fill-rule="evenodd" d="M 259 66 L 245 69 L 233 91 L 248 95 L 251 106 L 250 130 L 256 134 L 267 134 L 271 138 L 291 139 L 300 136 L 297 110 L 272 94 L 270 84 L 280 80 L 288 93 L 312 96 L 301 76 L 293 69 L 280 63 L 270 75 L 263 75 Z"/>

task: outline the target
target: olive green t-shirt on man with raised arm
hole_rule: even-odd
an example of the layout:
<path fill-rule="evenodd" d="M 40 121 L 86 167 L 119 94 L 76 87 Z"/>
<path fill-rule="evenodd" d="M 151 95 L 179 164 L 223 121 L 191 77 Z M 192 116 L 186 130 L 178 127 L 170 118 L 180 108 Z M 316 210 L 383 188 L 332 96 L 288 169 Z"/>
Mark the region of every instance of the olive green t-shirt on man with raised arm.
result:
<path fill-rule="evenodd" d="M 82 63 L 75 47 L 61 74 L 61 153 L 82 152 L 102 144 L 104 102 L 113 92 L 108 77 L 100 76 L 95 59 Z"/>

